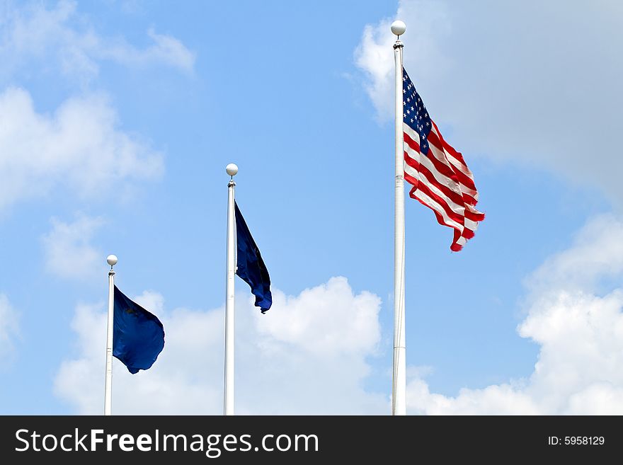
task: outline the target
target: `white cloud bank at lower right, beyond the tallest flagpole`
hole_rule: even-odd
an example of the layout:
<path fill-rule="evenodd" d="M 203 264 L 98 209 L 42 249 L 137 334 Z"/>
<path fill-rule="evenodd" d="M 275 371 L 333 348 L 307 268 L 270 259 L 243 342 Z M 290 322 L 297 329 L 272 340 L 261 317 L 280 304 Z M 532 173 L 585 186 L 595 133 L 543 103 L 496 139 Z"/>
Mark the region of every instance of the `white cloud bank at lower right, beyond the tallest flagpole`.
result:
<path fill-rule="evenodd" d="M 431 394 L 423 379 L 408 384 L 411 413 L 590 415 L 623 413 L 623 223 L 610 214 L 578 233 L 529 280 L 527 316 L 518 327 L 540 345 L 528 379 L 455 397 Z M 600 289 L 601 288 L 601 289 Z"/>

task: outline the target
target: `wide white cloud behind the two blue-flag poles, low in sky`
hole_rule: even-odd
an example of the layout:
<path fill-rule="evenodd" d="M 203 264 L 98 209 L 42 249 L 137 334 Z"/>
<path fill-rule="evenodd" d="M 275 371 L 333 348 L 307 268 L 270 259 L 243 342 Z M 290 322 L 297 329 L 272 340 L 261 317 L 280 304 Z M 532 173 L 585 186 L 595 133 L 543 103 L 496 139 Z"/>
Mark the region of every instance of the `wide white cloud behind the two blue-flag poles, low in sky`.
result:
<path fill-rule="evenodd" d="M 387 396 L 362 387 L 366 357 L 375 355 L 380 337 L 379 298 L 353 294 L 343 277 L 296 297 L 279 290 L 273 297 L 266 315 L 252 299 L 237 297 L 236 412 L 386 413 Z M 154 292 L 137 301 L 161 318 L 166 343 L 154 367 L 136 375 L 114 360 L 113 411 L 222 413 L 223 309 L 169 312 Z M 55 392 L 78 413 L 101 413 L 103 304 L 78 306 L 72 328 L 76 357 L 62 363 Z"/>

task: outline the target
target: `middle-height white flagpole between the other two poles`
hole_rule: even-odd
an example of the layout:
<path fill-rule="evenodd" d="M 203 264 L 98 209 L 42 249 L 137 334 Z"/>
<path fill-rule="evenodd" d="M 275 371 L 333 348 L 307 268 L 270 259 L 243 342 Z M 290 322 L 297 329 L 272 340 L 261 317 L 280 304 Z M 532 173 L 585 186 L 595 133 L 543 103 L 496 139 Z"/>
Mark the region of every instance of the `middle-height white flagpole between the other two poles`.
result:
<path fill-rule="evenodd" d="M 224 415 L 234 415 L 234 277 L 236 275 L 236 229 L 234 223 L 234 176 L 238 166 L 229 163 L 227 184 L 227 279 L 225 284 L 225 389 Z"/>

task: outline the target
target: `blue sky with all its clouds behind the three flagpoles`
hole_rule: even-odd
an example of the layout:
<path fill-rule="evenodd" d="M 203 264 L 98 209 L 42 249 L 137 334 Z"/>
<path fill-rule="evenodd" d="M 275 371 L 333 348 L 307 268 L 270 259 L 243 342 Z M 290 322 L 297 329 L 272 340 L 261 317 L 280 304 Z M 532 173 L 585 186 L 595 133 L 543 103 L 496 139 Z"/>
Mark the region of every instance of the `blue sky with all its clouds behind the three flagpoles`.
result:
<path fill-rule="evenodd" d="M 474 173 L 459 253 L 406 198 L 410 414 L 623 414 L 617 1 L 0 1 L 0 414 L 103 412 L 108 265 L 166 343 L 113 413 L 391 412 L 393 50 Z"/>

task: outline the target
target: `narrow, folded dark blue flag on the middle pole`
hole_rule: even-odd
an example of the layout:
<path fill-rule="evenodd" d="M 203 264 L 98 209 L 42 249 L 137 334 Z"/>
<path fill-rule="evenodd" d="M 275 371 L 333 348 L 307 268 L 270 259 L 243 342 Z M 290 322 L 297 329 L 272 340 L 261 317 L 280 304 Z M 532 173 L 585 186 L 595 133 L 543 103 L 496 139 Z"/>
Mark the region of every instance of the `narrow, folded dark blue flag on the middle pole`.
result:
<path fill-rule="evenodd" d="M 238 244 L 238 260 L 236 275 L 239 275 L 249 286 L 256 297 L 256 306 L 265 314 L 273 305 L 273 294 L 270 294 L 270 277 L 260 254 L 260 249 L 253 241 L 244 218 L 234 202 L 236 209 L 236 243 Z"/>

